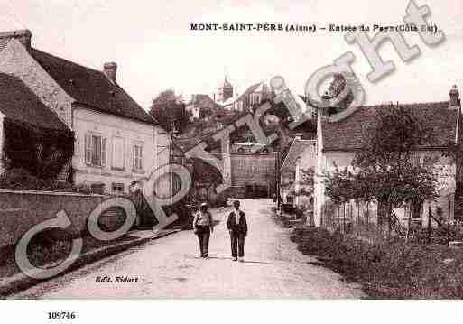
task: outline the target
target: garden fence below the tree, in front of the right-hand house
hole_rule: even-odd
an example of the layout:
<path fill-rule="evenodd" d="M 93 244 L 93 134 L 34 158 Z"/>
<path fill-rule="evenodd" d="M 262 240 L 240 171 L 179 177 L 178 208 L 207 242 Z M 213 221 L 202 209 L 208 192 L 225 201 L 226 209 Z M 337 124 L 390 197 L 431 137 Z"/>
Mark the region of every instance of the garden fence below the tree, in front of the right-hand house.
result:
<path fill-rule="evenodd" d="M 421 204 L 418 212 L 410 205 L 387 209 L 375 202 L 326 202 L 321 210 L 321 227 L 356 236 L 369 242 L 399 238 L 409 242 L 449 244 L 463 240 L 463 223 L 454 217 L 453 197 Z"/>

